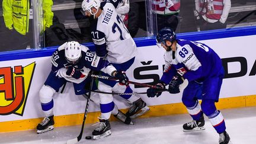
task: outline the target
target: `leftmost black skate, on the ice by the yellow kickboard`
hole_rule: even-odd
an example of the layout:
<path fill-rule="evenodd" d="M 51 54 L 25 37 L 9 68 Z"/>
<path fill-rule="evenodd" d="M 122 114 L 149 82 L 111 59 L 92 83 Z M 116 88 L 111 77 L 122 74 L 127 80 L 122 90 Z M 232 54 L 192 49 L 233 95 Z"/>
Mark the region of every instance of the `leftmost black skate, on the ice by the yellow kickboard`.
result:
<path fill-rule="evenodd" d="M 37 125 L 37 133 L 44 133 L 49 130 L 53 130 L 53 124 L 55 124 L 53 116 L 44 117 L 43 121 Z"/>

